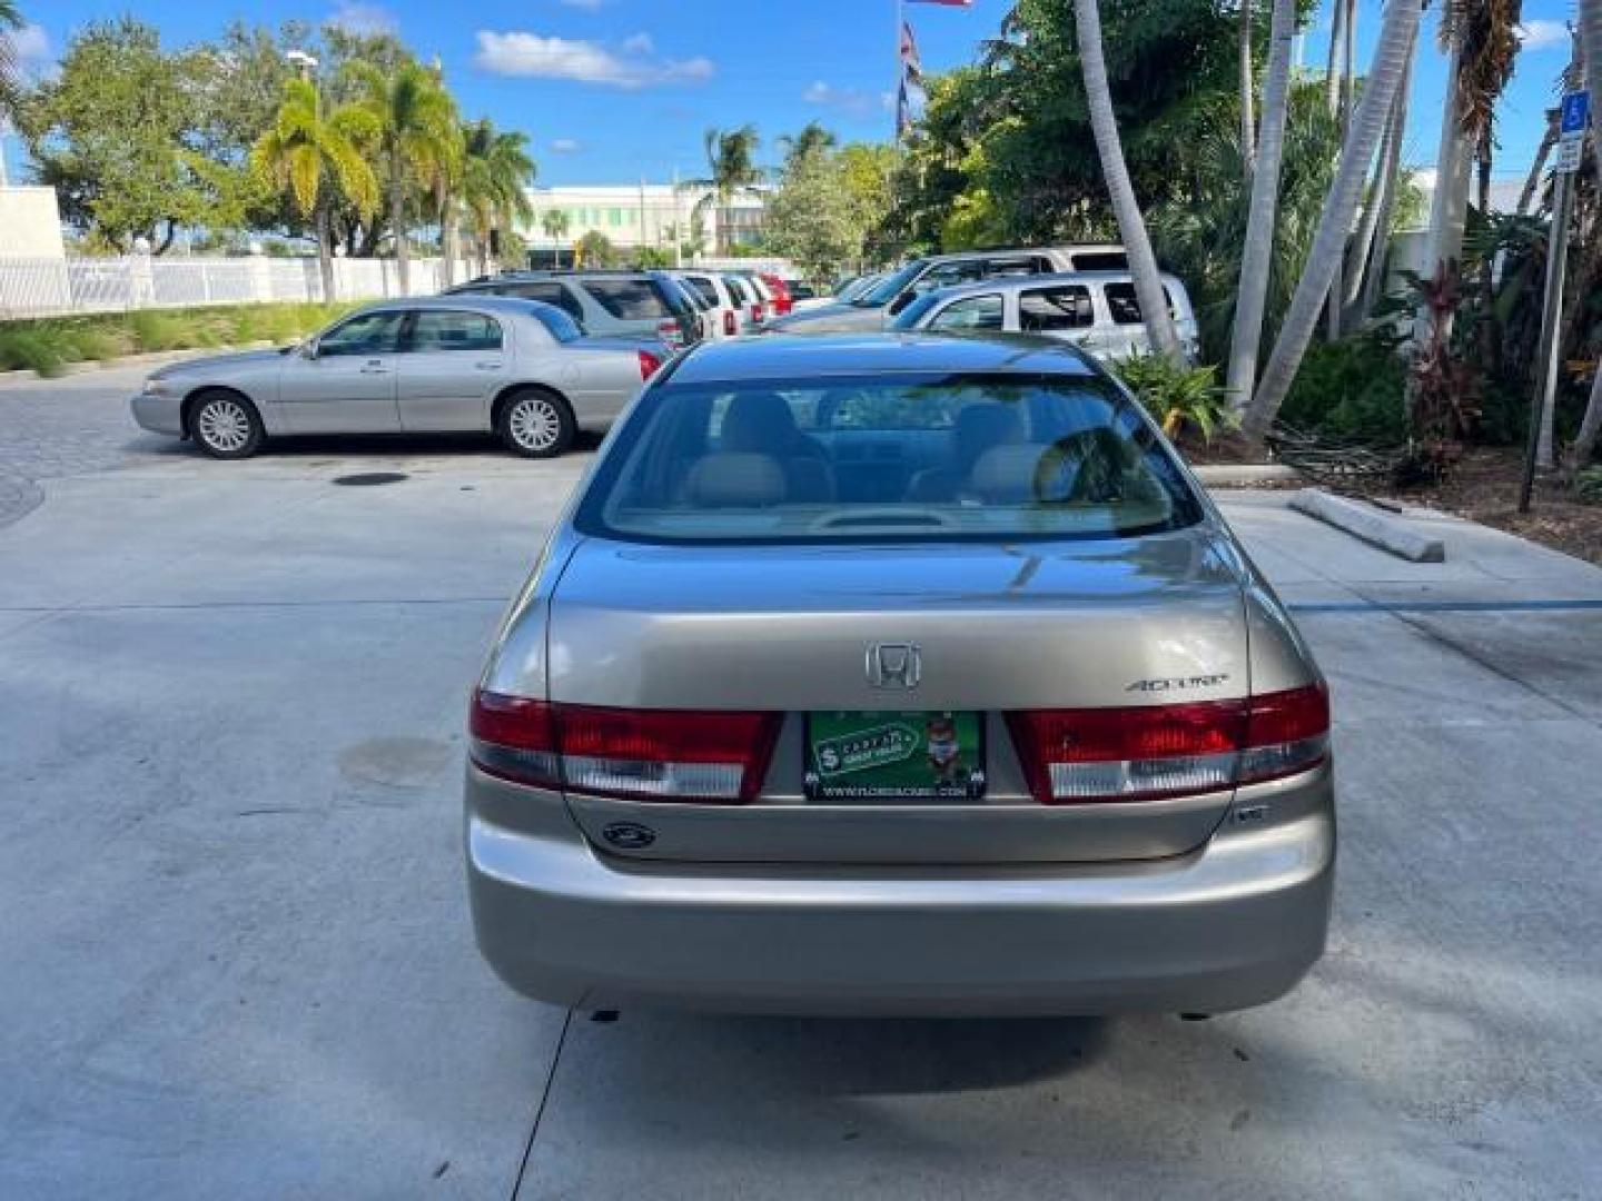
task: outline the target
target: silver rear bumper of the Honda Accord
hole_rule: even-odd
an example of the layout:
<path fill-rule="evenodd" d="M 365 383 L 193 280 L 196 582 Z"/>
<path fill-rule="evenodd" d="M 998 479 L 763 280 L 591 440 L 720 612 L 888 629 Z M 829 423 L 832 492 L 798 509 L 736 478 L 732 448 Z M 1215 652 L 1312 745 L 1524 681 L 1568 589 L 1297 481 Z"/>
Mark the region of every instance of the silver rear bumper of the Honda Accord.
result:
<path fill-rule="evenodd" d="M 479 948 L 508 985 L 564 1006 L 1221 1012 L 1290 991 L 1322 954 L 1330 918 L 1326 773 L 1294 818 L 1226 821 L 1179 858 L 937 874 L 623 862 L 554 804 L 538 833 L 497 825 L 471 804 L 474 789 L 497 788 L 469 767 Z"/>

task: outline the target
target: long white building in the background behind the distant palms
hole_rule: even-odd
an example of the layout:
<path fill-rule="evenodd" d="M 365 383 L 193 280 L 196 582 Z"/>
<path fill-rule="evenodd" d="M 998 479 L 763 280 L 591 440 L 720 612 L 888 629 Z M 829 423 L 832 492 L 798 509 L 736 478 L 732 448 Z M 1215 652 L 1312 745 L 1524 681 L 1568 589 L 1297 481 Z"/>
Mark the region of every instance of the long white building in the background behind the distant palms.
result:
<path fill-rule="evenodd" d="M 686 248 L 695 245 L 697 208 L 700 208 L 698 253 L 713 255 L 719 245 L 750 245 L 763 232 L 763 199 L 742 194 L 724 210 L 706 202 L 706 189 L 673 184 L 618 184 L 530 187 L 533 218 L 521 231 L 535 261 L 548 261 L 554 253 L 564 258 L 585 234 L 602 234 L 623 251 L 655 247 L 673 253 L 674 239 Z M 561 211 L 567 229 L 553 237 L 545 232 L 545 215 Z"/>

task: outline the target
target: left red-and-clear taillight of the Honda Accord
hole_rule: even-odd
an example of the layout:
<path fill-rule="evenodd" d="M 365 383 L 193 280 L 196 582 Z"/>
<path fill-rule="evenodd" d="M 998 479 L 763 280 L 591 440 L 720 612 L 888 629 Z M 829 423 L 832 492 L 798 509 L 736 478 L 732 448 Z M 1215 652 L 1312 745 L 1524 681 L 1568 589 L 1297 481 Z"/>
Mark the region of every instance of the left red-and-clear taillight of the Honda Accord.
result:
<path fill-rule="evenodd" d="M 516 783 L 590 796 L 740 804 L 763 786 L 780 719 L 546 705 L 476 692 L 473 761 Z"/>

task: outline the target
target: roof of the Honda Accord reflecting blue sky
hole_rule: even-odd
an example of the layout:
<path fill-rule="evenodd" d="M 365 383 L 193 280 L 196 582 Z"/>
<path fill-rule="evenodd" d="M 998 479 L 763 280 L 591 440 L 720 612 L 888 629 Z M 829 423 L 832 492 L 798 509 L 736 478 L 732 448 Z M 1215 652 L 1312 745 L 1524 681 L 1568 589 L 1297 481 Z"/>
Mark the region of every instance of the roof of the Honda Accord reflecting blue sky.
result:
<path fill-rule="evenodd" d="M 806 380 L 879 373 L 1099 375 L 1078 347 L 1019 335 L 839 333 L 702 343 L 674 367 L 671 383 Z"/>

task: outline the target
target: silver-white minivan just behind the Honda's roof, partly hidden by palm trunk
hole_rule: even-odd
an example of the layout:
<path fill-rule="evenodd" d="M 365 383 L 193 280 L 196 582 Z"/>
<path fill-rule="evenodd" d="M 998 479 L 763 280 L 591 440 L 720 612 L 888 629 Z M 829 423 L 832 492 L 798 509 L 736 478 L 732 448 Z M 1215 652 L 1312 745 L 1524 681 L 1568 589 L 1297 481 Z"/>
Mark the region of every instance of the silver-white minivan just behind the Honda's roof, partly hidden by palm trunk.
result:
<path fill-rule="evenodd" d="M 1185 359 L 1195 362 L 1200 338 L 1190 295 L 1168 274 L 1163 291 Z M 897 314 L 891 328 L 1033 333 L 1083 346 L 1101 359 L 1128 359 L 1152 349 L 1128 271 L 987 279 L 926 291 Z"/>

